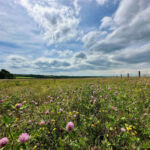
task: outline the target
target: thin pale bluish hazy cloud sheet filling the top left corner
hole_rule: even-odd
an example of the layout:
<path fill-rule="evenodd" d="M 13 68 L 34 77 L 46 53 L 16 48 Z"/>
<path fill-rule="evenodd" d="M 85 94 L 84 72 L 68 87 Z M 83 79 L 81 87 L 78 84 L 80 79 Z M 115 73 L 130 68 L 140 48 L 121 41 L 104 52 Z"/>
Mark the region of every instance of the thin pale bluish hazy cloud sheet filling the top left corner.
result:
<path fill-rule="evenodd" d="M 40 33 L 36 33 L 38 30 L 18 3 L 14 0 L 0 1 L 0 41 L 12 43 L 19 48 L 33 46 L 34 43 L 38 45 L 43 42 Z"/>

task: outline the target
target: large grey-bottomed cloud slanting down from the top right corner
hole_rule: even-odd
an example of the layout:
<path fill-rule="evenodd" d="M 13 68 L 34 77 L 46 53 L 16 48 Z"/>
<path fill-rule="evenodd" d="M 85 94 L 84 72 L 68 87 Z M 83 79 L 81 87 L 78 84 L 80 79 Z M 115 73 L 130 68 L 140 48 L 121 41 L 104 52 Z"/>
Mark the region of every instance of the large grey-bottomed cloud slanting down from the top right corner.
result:
<path fill-rule="evenodd" d="M 129 11 L 128 8 L 132 10 Z M 104 39 L 90 42 L 92 44 L 90 50 L 112 53 L 136 45 L 139 42 L 141 44 L 149 42 L 149 15 L 150 2 L 147 0 L 133 0 L 132 2 L 122 0 L 112 18 L 104 17 L 100 25 L 100 28 L 111 28 L 112 32 L 109 32 Z"/>

